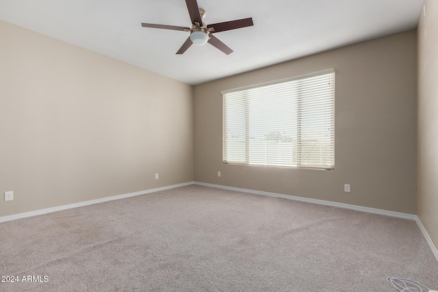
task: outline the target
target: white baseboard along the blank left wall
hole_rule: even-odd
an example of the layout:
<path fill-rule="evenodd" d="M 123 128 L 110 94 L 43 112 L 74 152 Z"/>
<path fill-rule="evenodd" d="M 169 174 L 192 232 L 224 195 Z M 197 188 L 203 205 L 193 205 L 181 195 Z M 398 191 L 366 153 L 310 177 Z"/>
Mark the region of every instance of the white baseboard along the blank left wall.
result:
<path fill-rule="evenodd" d="M 17 220 L 17 219 L 21 219 L 21 218 L 26 218 L 26 217 L 44 215 L 44 214 L 62 211 L 62 210 L 66 210 L 66 209 L 73 209 L 73 208 L 77 208 L 77 207 L 88 206 L 90 204 L 99 204 L 101 202 L 109 202 L 112 200 L 120 200 L 120 199 L 129 198 L 129 197 L 133 197 L 133 196 L 151 194 L 151 193 L 154 193 L 155 191 L 164 191 L 166 189 L 175 189 L 175 187 L 184 187 L 185 185 L 193 185 L 193 182 L 191 181 L 189 183 L 181 183 L 179 185 L 168 185 L 167 187 L 157 187 L 155 189 L 147 189 L 145 191 L 136 191 L 134 193 L 129 193 L 129 194 L 123 194 L 123 195 L 118 195 L 118 196 L 112 196 L 112 197 L 107 197 L 107 198 L 79 202 L 79 203 L 75 203 L 75 204 L 66 204 L 66 205 L 59 206 L 59 207 L 53 207 L 53 208 L 31 211 L 31 212 L 26 212 L 26 213 L 19 213 L 19 214 L 10 215 L 10 216 L 3 216 L 3 217 L 0 217 L 0 223 L 12 221 L 12 220 Z"/>

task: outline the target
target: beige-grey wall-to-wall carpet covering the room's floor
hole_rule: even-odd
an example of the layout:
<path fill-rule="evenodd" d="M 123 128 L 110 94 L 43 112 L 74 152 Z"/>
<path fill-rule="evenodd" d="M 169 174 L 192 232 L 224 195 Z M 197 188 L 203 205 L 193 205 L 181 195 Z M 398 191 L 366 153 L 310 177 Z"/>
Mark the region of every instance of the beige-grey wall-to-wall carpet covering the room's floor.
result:
<path fill-rule="evenodd" d="M 438 289 L 411 220 L 199 185 L 2 223 L 0 276 L 18 277 L 0 291 Z"/>

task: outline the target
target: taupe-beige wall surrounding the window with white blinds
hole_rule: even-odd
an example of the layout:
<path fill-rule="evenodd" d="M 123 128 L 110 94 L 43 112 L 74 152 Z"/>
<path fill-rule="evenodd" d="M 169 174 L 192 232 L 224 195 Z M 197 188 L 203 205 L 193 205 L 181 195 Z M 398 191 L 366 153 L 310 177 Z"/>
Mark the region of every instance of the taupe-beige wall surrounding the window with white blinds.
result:
<path fill-rule="evenodd" d="M 196 85 L 195 181 L 415 214 L 416 37 L 406 31 Z M 335 170 L 222 163 L 221 90 L 333 67 Z"/>

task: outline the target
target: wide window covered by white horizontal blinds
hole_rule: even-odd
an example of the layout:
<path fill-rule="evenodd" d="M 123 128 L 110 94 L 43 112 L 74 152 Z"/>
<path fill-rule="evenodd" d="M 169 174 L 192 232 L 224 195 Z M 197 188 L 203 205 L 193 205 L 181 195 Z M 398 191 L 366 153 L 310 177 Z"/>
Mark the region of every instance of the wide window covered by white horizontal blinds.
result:
<path fill-rule="evenodd" d="M 335 167 L 335 70 L 226 90 L 223 161 Z"/>

